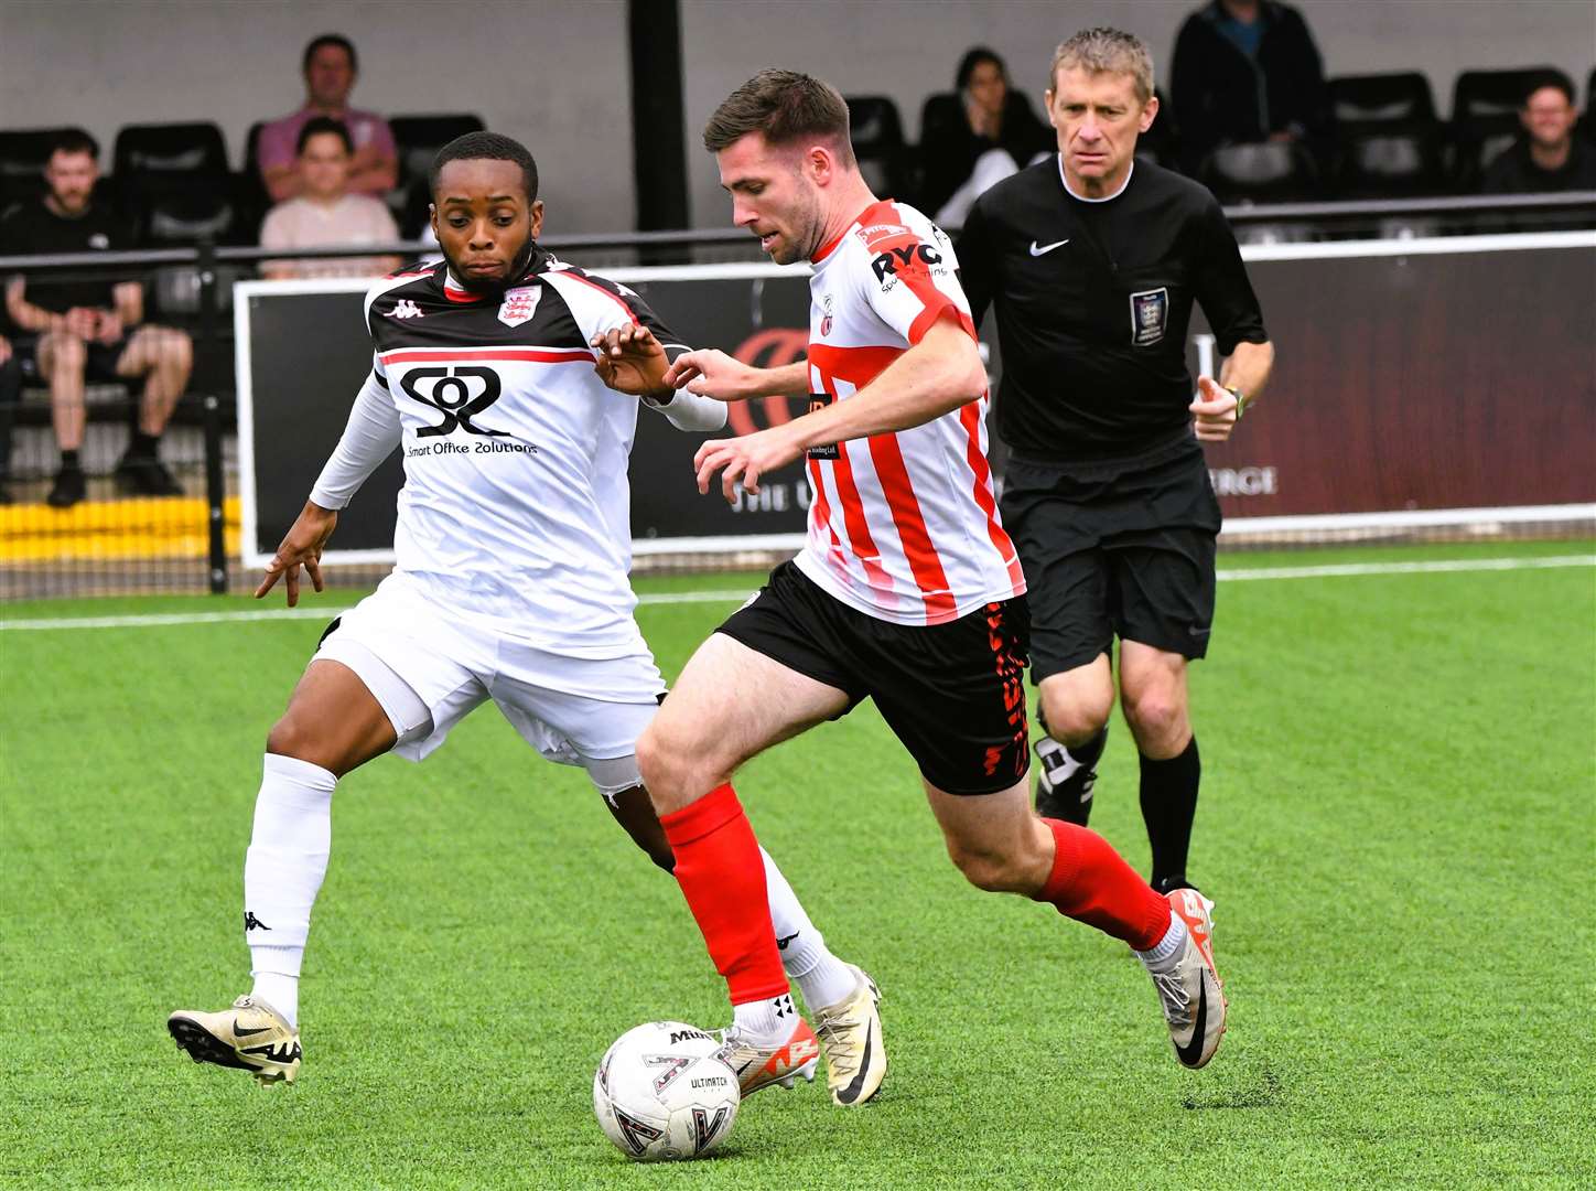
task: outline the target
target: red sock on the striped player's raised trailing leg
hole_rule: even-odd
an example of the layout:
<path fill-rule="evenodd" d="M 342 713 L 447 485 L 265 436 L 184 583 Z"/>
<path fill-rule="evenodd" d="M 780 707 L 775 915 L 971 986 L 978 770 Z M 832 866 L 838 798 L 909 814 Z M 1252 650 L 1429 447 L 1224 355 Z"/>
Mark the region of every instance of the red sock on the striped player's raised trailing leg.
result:
<path fill-rule="evenodd" d="M 1170 904 L 1096 832 L 1058 819 L 1042 822 L 1053 832 L 1053 872 L 1036 900 L 1138 952 L 1157 947 L 1170 929 Z"/>

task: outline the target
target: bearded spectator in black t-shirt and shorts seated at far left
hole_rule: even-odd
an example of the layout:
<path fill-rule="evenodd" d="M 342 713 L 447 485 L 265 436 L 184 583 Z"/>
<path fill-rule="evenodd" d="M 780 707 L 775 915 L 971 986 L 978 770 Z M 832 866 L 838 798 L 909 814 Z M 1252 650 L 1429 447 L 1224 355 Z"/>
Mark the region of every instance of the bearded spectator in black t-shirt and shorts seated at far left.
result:
<path fill-rule="evenodd" d="M 45 180 L 49 192 L 14 208 L 0 222 L 0 255 L 94 252 L 129 247 L 115 216 L 94 204 L 99 145 L 88 133 L 61 136 Z M 144 287 L 137 281 L 48 273 L 14 276 L 5 289 L 6 313 L 21 330 L 38 335 L 38 372 L 49 382 L 51 420 L 61 447 L 61 471 L 49 503 L 67 508 L 83 500 L 83 385 L 144 382 L 139 423 L 117 465 L 124 492 L 180 495 L 182 489 L 156 452 L 172 407 L 188 385 L 193 343 L 182 330 L 144 322 Z M 134 329 L 137 327 L 137 329 Z"/>

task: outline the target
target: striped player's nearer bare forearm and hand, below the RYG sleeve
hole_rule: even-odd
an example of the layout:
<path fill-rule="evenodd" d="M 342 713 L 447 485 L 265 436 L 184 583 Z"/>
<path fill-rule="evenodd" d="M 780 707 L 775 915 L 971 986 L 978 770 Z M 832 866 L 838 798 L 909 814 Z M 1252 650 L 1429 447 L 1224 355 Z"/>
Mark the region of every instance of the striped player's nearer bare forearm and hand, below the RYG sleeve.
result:
<path fill-rule="evenodd" d="M 699 492 L 709 492 L 718 471 L 721 495 L 728 503 L 736 501 L 739 484 L 744 492 L 758 492 L 760 476 L 787 466 L 809 447 L 919 426 L 975 401 L 985 390 L 986 369 L 975 340 L 950 311 L 847 401 L 757 434 L 705 442 L 693 458 Z"/>

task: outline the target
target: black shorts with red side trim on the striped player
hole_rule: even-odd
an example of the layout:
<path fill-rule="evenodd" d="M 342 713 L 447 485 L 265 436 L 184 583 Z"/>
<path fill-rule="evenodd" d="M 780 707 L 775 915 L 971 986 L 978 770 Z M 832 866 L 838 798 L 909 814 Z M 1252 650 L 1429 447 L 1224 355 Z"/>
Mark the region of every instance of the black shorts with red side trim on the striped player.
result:
<path fill-rule="evenodd" d="M 875 699 L 938 790 L 996 793 L 1029 768 L 1023 596 L 946 624 L 892 624 L 843 603 L 784 562 L 718 632 L 846 693 L 841 715 Z"/>

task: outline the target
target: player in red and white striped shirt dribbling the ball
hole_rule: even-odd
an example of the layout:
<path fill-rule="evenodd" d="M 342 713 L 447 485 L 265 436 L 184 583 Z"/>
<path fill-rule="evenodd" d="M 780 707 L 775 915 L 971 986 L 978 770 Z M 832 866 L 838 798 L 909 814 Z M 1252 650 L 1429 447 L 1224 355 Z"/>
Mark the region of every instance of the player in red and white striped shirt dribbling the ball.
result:
<path fill-rule="evenodd" d="M 1178 1058 L 1202 1066 L 1226 1014 L 1207 908 L 1159 896 L 1100 835 L 1029 805 L 1025 578 L 996 509 L 986 374 L 948 238 L 876 200 L 843 97 L 809 75 L 755 75 L 710 117 L 704 144 L 733 222 L 777 263 L 814 270 L 808 361 L 755 369 L 693 351 L 666 375 L 725 401 L 809 398 L 803 417 L 697 452 L 699 490 L 718 473 L 728 500 L 804 458 L 808 543 L 699 647 L 637 742 L 675 876 L 726 977 L 734 1065 L 796 1070 L 814 1036 L 788 996 L 733 774 L 871 698 L 919 765 L 961 872 L 1130 944 Z M 867 1084 L 884 1057 L 879 1039 L 863 1047 Z"/>

